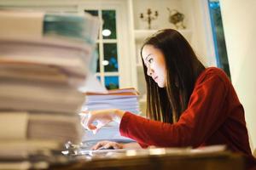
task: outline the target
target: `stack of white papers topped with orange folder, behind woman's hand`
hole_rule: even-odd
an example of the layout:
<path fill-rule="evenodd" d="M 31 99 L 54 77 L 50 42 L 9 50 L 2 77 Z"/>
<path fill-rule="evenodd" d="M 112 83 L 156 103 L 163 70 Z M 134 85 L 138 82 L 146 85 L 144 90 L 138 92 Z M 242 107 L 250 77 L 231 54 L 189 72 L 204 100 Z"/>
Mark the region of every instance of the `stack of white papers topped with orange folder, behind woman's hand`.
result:
<path fill-rule="evenodd" d="M 86 101 L 82 111 L 96 111 L 104 109 L 119 109 L 122 111 L 130 111 L 136 115 L 140 114 L 138 104 L 138 93 L 134 88 L 122 88 L 109 90 L 107 93 L 85 93 Z M 83 116 L 83 114 L 81 114 Z M 96 134 L 90 131 L 84 131 L 83 142 L 98 140 L 131 140 L 120 136 L 119 124 L 111 122 L 106 127 L 102 127 Z"/>

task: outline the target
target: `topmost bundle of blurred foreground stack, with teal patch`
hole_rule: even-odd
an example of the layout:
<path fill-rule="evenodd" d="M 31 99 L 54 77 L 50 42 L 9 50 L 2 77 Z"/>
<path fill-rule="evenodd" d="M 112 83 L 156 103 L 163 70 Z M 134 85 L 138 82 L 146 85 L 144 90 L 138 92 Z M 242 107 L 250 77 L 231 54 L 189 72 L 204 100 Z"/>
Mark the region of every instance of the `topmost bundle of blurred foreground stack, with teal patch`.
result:
<path fill-rule="evenodd" d="M 44 14 L 36 11 L 1 10 L 0 21 L 0 37 L 13 39 L 42 40 L 61 37 L 94 45 L 99 30 L 98 18 L 90 14 Z"/>

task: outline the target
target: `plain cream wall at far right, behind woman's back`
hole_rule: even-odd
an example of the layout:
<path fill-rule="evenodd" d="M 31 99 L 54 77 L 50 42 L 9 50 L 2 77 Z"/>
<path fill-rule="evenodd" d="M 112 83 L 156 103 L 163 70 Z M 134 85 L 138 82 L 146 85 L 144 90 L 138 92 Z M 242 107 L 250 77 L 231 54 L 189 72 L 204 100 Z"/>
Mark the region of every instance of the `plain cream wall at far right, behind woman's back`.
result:
<path fill-rule="evenodd" d="M 246 111 L 251 147 L 256 147 L 256 1 L 220 0 L 230 73 Z"/>

